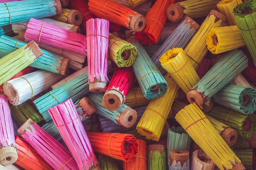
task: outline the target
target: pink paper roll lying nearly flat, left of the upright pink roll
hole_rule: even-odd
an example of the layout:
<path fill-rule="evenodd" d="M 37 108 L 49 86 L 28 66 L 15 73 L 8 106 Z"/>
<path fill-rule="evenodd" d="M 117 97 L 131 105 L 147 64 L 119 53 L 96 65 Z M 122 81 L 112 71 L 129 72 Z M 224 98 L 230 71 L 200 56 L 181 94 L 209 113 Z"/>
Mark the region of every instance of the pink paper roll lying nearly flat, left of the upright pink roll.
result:
<path fill-rule="evenodd" d="M 86 36 L 33 18 L 27 25 L 25 39 L 84 55 L 87 52 Z"/>

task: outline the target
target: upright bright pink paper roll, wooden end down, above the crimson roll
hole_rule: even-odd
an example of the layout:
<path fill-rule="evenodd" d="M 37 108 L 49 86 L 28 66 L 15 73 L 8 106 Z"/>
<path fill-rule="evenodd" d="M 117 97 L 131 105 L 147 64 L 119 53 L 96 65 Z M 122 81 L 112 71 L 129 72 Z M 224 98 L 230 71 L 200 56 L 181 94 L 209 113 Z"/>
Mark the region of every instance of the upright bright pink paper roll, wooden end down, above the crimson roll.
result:
<path fill-rule="evenodd" d="M 89 89 L 94 93 L 102 93 L 106 91 L 108 82 L 109 22 L 92 18 L 86 26 Z"/>

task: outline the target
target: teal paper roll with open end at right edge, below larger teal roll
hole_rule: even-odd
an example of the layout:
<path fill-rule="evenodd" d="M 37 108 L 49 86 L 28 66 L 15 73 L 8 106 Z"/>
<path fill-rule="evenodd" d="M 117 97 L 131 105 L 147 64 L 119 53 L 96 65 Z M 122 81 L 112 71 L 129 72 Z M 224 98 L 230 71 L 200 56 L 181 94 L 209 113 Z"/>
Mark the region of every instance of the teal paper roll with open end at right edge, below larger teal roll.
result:
<path fill-rule="evenodd" d="M 240 113 L 250 114 L 256 110 L 256 89 L 252 87 L 226 85 L 212 99 L 215 103 Z"/>

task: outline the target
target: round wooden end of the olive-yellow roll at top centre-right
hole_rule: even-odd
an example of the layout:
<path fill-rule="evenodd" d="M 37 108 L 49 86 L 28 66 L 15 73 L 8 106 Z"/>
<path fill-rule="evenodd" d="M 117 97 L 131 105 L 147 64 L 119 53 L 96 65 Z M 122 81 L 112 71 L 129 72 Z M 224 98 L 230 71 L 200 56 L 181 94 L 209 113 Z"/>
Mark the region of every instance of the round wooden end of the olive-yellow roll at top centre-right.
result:
<path fill-rule="evenodd" d="M 175 23 L 184 17 L 183 8 L 179 4 L 172 4 L 166 8 L 167 19 Z"/>

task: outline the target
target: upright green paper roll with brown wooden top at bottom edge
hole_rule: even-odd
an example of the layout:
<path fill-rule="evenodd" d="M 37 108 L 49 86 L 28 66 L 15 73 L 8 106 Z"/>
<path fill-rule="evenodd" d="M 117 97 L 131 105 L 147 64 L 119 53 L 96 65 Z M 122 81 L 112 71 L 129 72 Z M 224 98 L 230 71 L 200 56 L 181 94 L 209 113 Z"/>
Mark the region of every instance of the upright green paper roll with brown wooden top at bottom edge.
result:
<path fill-rule="evenodd" d="M 166 150 L 161 144 L 148 145 L 148 170 L 166 170 Z"/>

